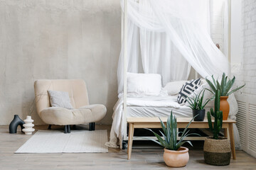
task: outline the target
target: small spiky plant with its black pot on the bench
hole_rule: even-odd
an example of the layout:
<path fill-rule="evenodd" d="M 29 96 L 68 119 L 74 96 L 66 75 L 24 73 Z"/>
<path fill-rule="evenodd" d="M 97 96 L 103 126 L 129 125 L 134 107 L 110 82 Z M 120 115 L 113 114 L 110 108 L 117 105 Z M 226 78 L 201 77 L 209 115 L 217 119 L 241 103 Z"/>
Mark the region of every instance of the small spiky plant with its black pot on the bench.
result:
<path fill-rule="evenodd" d="M 210 101 L 210 98 L 206 99 L 206 101 L 203 101 L 205 91 L 206 89 L 203 89 L 198 95 L 194 94 L 193 97 L 187 97 L 187 101 L 189 107 L 193 111 L 193 117 L 195 121 L 203 121 L 205 118 L 206 110 L 204 108 Z"/>

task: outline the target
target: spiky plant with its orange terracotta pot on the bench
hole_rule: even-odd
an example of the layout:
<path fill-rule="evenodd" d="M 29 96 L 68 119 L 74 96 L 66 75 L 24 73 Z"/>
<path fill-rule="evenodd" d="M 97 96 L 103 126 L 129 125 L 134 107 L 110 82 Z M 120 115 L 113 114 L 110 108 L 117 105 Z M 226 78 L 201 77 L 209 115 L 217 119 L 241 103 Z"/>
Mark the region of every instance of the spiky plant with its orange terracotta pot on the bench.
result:
<path fill-rule="evenodd" d="M 223 120 L 228 120 L 228 114 L 230 111 L 230 106 L 228 103 L 228 96 L 230 94 L 233 94 L 235 91 L 238 91 L 239 89 L 242 89 L 244 85 L 238 86 L 237 88 L 233 89 L 230 91 L 232 88 L 233 84 L 235 83 L 235 77 L 233 79 L 228 79 L 228 76 L 223 73 L 223 77 L 221 81 L 219 82 L 218 80 L 215 80 L 213 75 L 212 75 L 213 82 L 210 80 L 206 79 L 207 83 L 210 86 L 210 89 L 208 89 L 210 92 L 213 94 L 216 94 L 216 91 L 220 91 L 220 111 L 223 111 Z"/>

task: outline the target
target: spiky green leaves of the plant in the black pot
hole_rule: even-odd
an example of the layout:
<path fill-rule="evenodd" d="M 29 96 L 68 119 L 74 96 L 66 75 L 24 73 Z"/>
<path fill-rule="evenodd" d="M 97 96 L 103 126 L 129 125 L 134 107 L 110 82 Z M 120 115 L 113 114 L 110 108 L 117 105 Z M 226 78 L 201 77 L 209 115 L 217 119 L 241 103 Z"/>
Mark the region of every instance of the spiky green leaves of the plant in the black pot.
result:
<path fill-rule="evenodd" d="M 187 97 L 190 108 L 192 108 L 193 110 L 203 110 L 203 108 L 205 108 L 206 104 L 211 100 L 211 98 L 208 98 L 206 99 L 206 101 L 203 102 L 203 96 L 205 91 L 206 89 L 203 89 L 198 95 L 195 94 L 192 98 Z"/>

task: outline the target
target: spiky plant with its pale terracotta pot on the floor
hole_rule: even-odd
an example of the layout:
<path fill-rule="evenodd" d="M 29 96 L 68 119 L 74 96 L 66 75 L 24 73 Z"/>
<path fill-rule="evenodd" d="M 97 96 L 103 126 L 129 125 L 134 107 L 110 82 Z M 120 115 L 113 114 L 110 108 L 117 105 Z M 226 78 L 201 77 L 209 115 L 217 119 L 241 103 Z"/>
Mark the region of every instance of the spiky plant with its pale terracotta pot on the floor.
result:
<path fill-rule="evenodd" d="M 177 142 L 177 135 L 178 135 L 177 120 L 175 115 L 172 114 L 172 111 L 171 111 L 170 117 L 166 122 L 166 126 L 160 119 L 161 128 L 163 132 L 161 131 L 159 132 L 161 133 L 163 138 L 160 135 L 158 135 L 156 132 L 153 132 L 152 130 L 148 129 L 154 133 L 158 141 L 152 140 L 152 139 L 150 140 L 164 147 L 164 162 L 166 163 L 166 165 L 172 166 L 172 167 L 182 167 L 182 166 L 186 166 L 186 164 L 188 163 L 188 159 L 189 159 L 188 148 L 182 147 L 182 145 L 188 142 L 188 144 L 193 146 L 190 141 L 183 141 L 183 140 L 185 140 L 185 138 L 188 135 L 198 135 L 196 133 L 188 134 L 189 130 L 187 131 L 187 129 L 188 129 L 188 126 L 191 124 L 192 120 L 188 123 L 186 128 L 181 133 L 181 139 L 178 142 Z"/>

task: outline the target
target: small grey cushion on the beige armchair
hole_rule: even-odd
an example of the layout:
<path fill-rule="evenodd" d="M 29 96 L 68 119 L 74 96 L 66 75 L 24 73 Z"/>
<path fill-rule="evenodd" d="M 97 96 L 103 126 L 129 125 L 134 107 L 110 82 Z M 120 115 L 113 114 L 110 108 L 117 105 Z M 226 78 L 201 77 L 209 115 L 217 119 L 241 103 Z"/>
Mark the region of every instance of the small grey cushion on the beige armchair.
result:
<path fill-rule="evenodd" d="M 68 92 L 66 91 L 48 91 L 50 96 L 50 106 L 73 109 Z"/>

